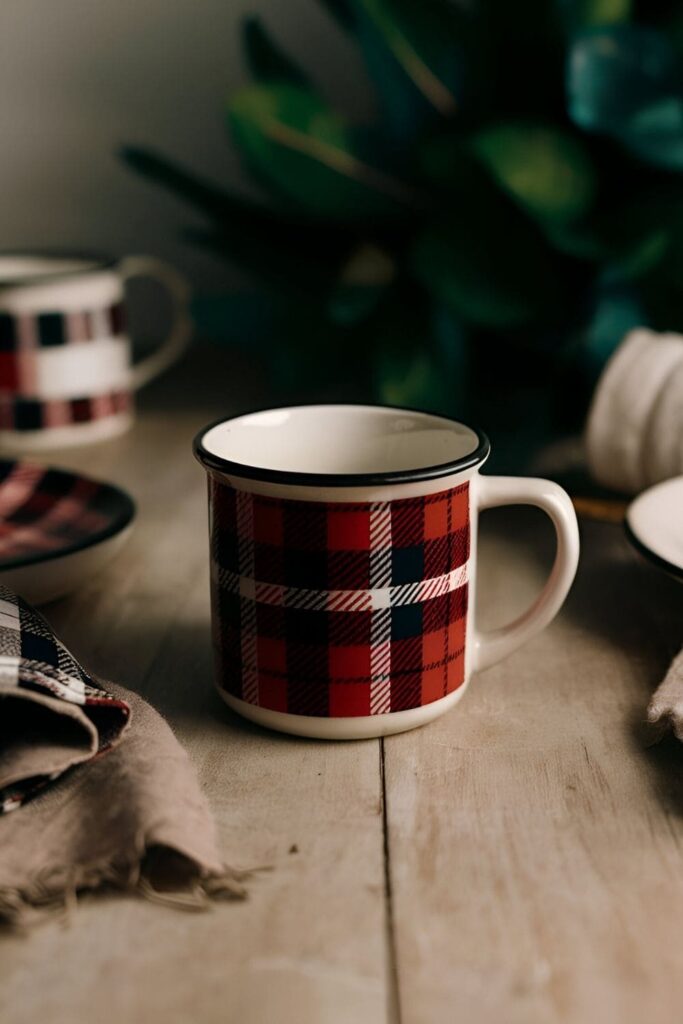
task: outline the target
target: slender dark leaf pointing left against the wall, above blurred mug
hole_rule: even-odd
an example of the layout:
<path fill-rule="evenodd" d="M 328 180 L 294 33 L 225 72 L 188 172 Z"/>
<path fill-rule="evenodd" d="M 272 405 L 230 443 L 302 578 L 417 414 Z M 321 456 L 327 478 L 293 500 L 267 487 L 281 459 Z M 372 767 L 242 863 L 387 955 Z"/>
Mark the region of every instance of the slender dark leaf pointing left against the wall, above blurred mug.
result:
<path fill-rule="evenodd" d="M 233 196 L 148 150 L 129 146 L 122 157 L 210 219 L 210 230 L 186 232 L 189 241 L 275 287 L 301 293 L 330 287 L 354 244 L 346 232 Z"/>

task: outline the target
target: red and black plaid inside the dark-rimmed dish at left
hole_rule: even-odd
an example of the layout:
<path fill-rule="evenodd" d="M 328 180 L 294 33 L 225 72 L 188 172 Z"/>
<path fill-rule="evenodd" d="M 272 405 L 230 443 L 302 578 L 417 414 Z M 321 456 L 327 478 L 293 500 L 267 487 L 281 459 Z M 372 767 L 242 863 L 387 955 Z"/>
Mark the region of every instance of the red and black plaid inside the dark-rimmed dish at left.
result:
<path fill-rule="evenodd" d="M 86 547 L 133 515 L 109 484 L 33 463 L 0 461 L 0 570 Z"/>

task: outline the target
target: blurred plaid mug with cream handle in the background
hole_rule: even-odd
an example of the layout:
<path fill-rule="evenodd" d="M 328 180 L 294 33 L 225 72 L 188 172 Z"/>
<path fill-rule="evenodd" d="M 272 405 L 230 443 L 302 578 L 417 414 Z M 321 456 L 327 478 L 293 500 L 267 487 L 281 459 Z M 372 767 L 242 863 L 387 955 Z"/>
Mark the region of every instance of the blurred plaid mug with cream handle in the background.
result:
<path fill-rule="evenodd" d="M 151 278 L 169 293 L 173 323 L 133 365 L 125 286 Z M 185 349 L 188 288 L 167 264 L 132 256 L 0 254 L 0 447 L 11 453 L 101 440 L 132 422 L 133 392 Z"/>

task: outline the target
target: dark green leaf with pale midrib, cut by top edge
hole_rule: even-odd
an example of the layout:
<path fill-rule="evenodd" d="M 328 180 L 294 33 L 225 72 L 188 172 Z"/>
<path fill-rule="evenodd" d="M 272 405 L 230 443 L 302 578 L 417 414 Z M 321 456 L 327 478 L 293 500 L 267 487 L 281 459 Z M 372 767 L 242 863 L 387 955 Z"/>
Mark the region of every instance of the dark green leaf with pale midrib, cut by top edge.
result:
<path fill-rule="evenodd" d="M 396 134 L 458 111 L 462 15 L 444 0 L 355 0 L 368 71 Z"/>

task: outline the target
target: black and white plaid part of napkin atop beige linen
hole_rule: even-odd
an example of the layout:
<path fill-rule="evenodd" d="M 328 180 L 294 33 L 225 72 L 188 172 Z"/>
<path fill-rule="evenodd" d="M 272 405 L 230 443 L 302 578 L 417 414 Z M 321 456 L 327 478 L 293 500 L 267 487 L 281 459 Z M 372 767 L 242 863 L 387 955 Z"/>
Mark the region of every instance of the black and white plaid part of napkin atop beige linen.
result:
<path fill-rule="evenodd" d="M 16 701 L 27 691 L 79 705 L 96 723 L 95 757 L 112 746 L 128 721 L 128 705 L 95 686 L 42 615 L 0 587 L 0 702 Z M 3 748 L 11 748 L 11 740 L 5 727 Z M 4 758 L 8 760 L 9 755 Z M 0 786 L 0 814 L 15 810 L 58 774 L 34 774 Z"/>

